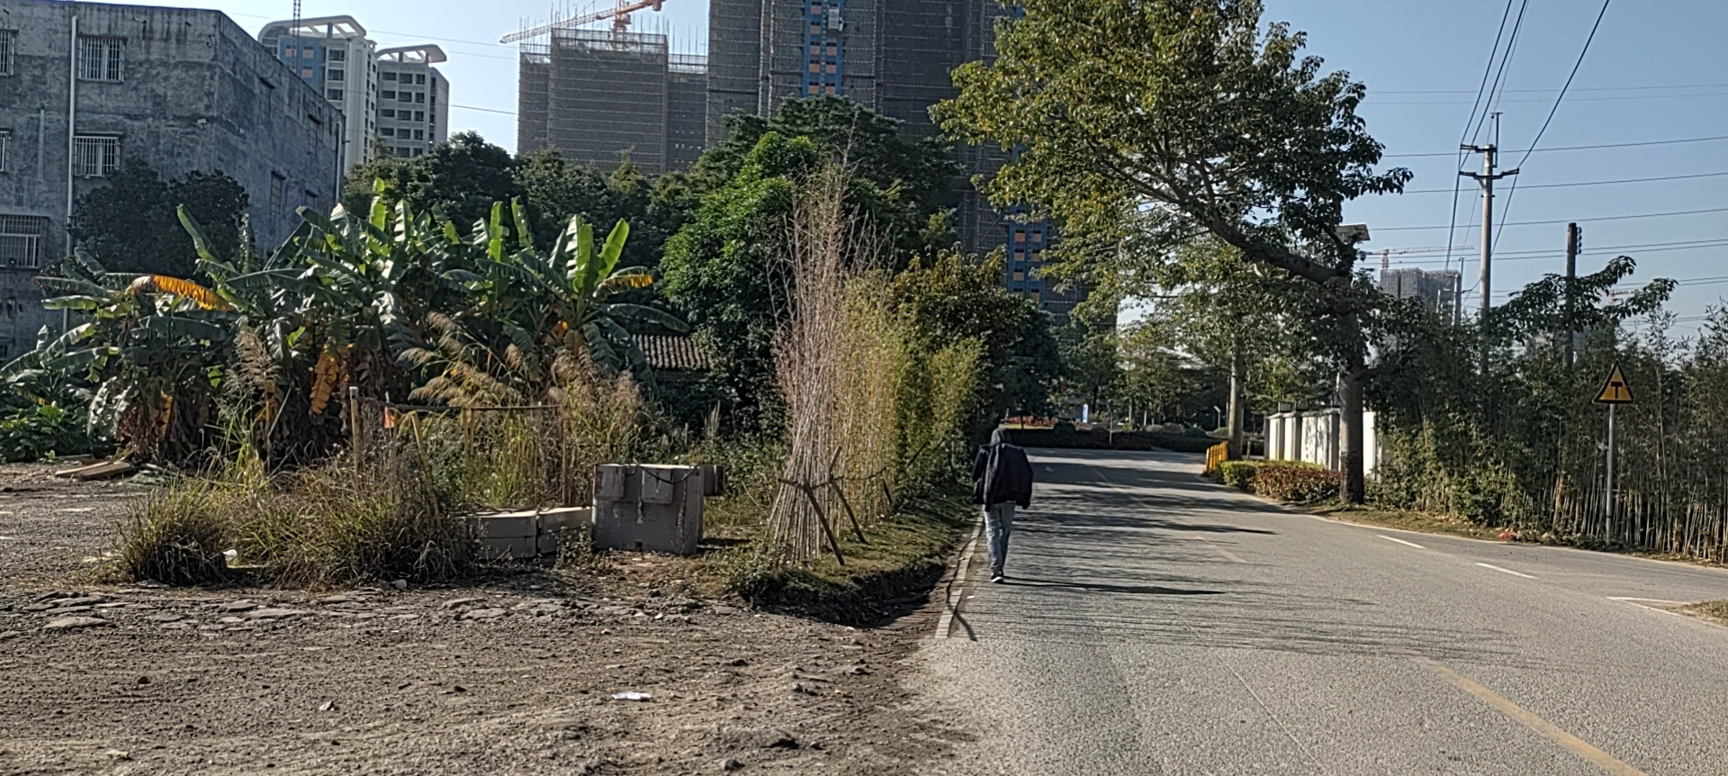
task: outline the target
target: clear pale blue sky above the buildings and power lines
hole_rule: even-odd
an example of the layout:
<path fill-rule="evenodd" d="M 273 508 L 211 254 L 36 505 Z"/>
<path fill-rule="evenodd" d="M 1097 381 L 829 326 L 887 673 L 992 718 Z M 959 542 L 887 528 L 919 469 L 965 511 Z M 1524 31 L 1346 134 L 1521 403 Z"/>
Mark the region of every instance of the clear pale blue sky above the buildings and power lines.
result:
<path fill-rule="evenodd" d="M 1522 0 L 1519 0 L 1522 2 Z M 162 5 L 161 2 L 150 5 Z M 290 0 L 214 0 L 214 7 L 257 31 L 292 16 Z M 582 9 L 588 3 L 558 3 Z M 610 2 L 600 3 L 610 7 Z M 1365 247 L 1424 249 L 1446 245 L 1453 219 L 1457 145 L 1483 78 L 1505 0 L 1267 0 L 1267 19 L 1308 33 L 1308 50 L 1329 69 L 1344 69 L 1369 86 L 1369 130 L 1394 154 L 1388 164 L 1415 171 L 1412 194 L 1375 197 L 1350 207 L 1369 223 Z M 1503 149 L 1529 147 L 1553 97 L 1578 59 L 1600 3 L 1597 0 L 1528 0 L 1522 31 L 1495 109 L 1502 111 Z M 454 130 L 479 130 L 515 145 L 515 48 L 505 33 L 544 19 L 551 3 L 473 0 L 308 0 L 304 16 L 351 14 L 380 45 L 441 43 L 451 62 Z M 1514 7 L 1514 14 L 1517 7 Z M 705 0 L 665 0 L 660 14 L 638 14 L 636 29 L 670 31 L 674 48 L 696 52 L 707 41 Z M 1519 166 L 1519 190 L 1496 197 L 1507 226 L 1495 251 L 1495 297 L 1543 273 L 1560 271 L 1566 219 L 1585 228 L 1581 271 L 1617 254 L 1638 259 L 1635 278 L 1681 280 L 1671 309 L 1690 318 L 1728 296 L 1728 140 L 1543 150 L 1576 145 L 1650 143 L 1728 135 L 1728 3 L 1721 0 L 1616 0 L 1578 73 L 1572 90 L 1541 137 L 1536 152 L 1507 154 Z M 1488 140 L 1483 137 L 1481 140 Z M 1438 154 L 1438 156 L 1403 156 Z M 1481 159 L 1467 161 L 1479 169 Z M 1598 185 L 1630 178 L 1673 178 Z M 1510 183 L 1510 181 L 1503 181 Z M 1571 185 L 1586 183 L 1586 185 Z M 1457 204 L 1455 254 L 1467 258 L 1465 287 L 1476 283 L 1481 200 L 1464 181 Z M 1424 194 L 1433 192 L 1433 194 Z M 1657 218 L 1657 213 L 1711 211 Z M 1612 219 L 1602 219 L 1612 218 Z M 1531 223 L 1522 221 L 1559 221 Z M 1458 251 L 1457 247 L 1471 249 Z M 1640 247 L 1631 247 L 1640 245 Z M 1379 259 L 1375 259 L 1379 261 Z M 1393 254 L 1393 266 L 1443 268 L 1445 251 Z M 1467 308 L 1476 299 L 1467 297 Z M 1681 328 L 1697 327 L 1681 320 Z"/>

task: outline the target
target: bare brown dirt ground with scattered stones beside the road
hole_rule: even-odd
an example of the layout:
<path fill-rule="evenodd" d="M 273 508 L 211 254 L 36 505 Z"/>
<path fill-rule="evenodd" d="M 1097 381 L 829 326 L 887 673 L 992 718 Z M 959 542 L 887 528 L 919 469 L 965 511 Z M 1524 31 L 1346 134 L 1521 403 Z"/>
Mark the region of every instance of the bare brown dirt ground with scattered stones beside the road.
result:
<path fill-rule="evenodd" d="M 909 688 L 931 607 L 854 629 L 550 570 L 79 584 L 143 493 L 0 467 L 0 774 L 914 774 L 969 740 Z"/>

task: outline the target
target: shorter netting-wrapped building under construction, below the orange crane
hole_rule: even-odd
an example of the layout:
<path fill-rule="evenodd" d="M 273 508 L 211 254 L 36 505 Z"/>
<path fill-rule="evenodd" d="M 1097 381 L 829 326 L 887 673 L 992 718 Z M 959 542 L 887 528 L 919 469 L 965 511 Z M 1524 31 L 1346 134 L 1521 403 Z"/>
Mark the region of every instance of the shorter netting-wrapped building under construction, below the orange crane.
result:
<path fill-rule="evenodd" d="M 517 150 L 643 173 L 684 169 L 702 156 L 707 57 L 676 55 L 665 35 L 551 29 L 522 43 Z"/>

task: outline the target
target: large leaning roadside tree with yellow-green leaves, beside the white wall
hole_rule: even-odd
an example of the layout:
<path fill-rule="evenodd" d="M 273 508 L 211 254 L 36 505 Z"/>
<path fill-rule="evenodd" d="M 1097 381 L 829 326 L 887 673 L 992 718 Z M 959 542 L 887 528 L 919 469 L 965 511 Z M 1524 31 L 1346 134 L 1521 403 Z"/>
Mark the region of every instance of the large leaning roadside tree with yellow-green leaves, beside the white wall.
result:
<path fill-rule="evenodd" d="M 1210 233 L 1315 299 L 1337 366 L 1346 501 L 1363 498 L 1362 411 L 1382 297 L 1339 235 L 1346 200 L 1396 194 L 1344 73 L 1299 57 L 1301 33 L 1261 28 L 1258 0 L 1026 0 L 999 57 L 954 73 L 952 133 L 1016 149 L 990 181 L 1064 233 L 1168 251 Z M 1094 261 L 1115 261 L 1099 252 Z"/>

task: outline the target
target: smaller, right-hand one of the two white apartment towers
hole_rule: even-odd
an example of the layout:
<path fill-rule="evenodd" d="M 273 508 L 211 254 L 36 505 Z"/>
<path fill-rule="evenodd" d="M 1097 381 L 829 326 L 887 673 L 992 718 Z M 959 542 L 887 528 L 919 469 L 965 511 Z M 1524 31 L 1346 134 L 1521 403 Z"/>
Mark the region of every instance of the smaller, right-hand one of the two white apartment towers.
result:
<path fill-rule="evenodd" d="M 449 81 L 432 67 L 446 62 L 435 45 L 378 52 L 378 145 L 422 156 L 449 135 Z"/>

